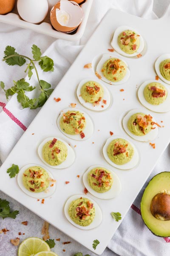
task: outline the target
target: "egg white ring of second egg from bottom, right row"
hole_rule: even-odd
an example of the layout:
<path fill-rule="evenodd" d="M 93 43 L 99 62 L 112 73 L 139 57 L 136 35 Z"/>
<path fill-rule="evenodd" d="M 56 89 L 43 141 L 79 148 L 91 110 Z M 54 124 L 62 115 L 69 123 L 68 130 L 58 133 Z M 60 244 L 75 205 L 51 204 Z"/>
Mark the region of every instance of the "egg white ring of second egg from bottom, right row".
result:
<path fill-rule="evenodd" d="M 111 172 L 111 176 L 113 178 L 113 184 L 111 186 L 111 189 L 109 189 L 107 192 L 104 193 L 98 193 L 96 192 L 94 189 L 91 188 L 91 186 L 88 183 L 88 173 L 94 169 L 94 168 L 105 168 L 108 171 Z M 83 183 L 86 187 L 86 189 L 88 190 L 89 193 L 91 193 L 91 195 L 94 195 L 96 198 L 100 198 L 100 199 L 111 199 L 111 198 L 115 198 L 116 196 L 118 196 L 122 190 L 122 185 L 121 182 L 119 180 L 119 177 L 116 175 L 116 173 L 114 173 L 111 169 L 109 169 L 106 166 L 101 166 L 101 165 L 95 165 L 95 166 L 90 166 L 88 168 L 88 170 L 84 173 L 83 177 L 82 177 Z"/>

